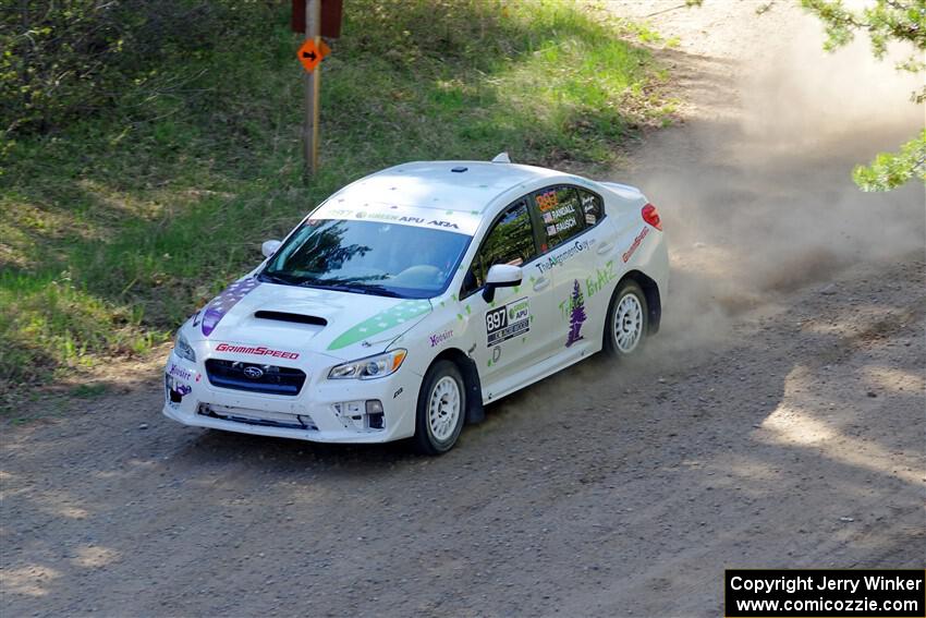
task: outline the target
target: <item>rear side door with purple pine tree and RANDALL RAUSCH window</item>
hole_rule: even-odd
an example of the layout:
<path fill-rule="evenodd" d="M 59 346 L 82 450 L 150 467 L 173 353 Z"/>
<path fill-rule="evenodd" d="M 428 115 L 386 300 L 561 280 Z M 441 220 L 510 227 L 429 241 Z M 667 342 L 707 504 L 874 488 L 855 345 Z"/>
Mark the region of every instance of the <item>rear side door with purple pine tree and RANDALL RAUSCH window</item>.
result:
<path fill-rule="evenodd" d="M 547 327 L 550 354 L 574 346 L 597 342 L 607 311 L 600 306 L 604 286 L 612 278 L 607 271 L 611 239 L 604 218 L 601 198 L 576 186 L 560 184 L 534 193 L 533 215 L 540 223 L 540 250 L 537 262 L 552 277 L 555 319 Z M 614 267 L 616 265 L 611 265 Z M 594 325 L 594 327 L 593 327 Z"/>

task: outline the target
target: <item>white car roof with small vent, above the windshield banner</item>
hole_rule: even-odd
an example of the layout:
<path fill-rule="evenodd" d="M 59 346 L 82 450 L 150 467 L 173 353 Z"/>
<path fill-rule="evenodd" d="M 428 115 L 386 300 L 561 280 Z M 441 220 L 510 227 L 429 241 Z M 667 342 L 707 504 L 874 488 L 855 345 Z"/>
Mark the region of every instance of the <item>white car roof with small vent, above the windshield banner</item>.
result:
<path fill-rule="evenodd" d="M 454 171 L 456 170 L 456 171 Z M 502 193 L 561 172 L 507 162 L 413 161 L 349 184 L 331 201 L 483 214 Z"/>

